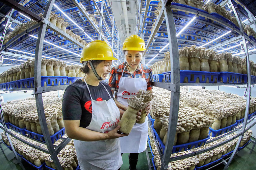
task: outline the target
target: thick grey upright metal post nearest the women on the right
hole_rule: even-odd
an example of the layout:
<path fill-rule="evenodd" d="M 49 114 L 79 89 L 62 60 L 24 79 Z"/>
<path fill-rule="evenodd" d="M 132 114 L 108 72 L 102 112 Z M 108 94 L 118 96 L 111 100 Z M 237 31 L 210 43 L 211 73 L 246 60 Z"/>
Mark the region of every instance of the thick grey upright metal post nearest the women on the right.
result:
<path fill-rule="evenodd" d="M 179 100 L 180 100 L 180 64 L 179 64 L 179 51 L 178 51 L 178 40 L 176 37 L 176 30 L 174 17 L 170 8 L 172 0 L 162 0 L 164 9 L 164 14 L 166 18 L 166 27 L 169 40 L 169 49 L 170 49 L 170 60 L 171 60 L 171 83 L 175 86 L 175 89 L 171 91 L 171 101 L 170 101 L 170 116 L 169 116 L 169 125 L 168 125 L 168 134 L 165 145 L 165 152 L 162 158 L 161 170 L 168 168 L 168 163 L 172 153 L 177 121 L 178 121 L 178 112 L 179 112 Z"/>

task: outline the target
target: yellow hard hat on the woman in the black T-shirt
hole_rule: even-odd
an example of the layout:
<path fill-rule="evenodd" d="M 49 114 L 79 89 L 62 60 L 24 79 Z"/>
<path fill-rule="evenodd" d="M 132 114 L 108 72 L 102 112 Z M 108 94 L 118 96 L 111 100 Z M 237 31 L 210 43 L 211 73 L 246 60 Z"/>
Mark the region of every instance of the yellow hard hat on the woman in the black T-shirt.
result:
<path fill-rule="evenodd" d="M 113 57 L 112 49 L 105 41 L 96 40 L 85 45 L 80 58 L 80 63 L 89 60 L 118 60 Z"/>

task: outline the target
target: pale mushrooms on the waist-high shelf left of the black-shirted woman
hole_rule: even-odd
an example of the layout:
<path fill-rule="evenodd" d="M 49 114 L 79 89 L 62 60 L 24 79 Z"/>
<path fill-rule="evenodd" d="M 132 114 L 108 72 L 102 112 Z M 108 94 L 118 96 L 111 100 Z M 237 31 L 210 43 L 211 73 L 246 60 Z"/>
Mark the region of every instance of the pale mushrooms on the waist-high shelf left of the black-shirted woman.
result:
<path fill-rule="evenodd" d="M 58 98 L 57 93 L 43 94 L 44 112 L 50 135 L 54 135 L 64 127 L 62 119 L 62 96 Z M 38 119 L 36 101 L 34 97 L 22 100 L 8 101 L 2 103 L 4 119 L 6 123 L 12 123 L 19 128 L 42 134 Z"/>

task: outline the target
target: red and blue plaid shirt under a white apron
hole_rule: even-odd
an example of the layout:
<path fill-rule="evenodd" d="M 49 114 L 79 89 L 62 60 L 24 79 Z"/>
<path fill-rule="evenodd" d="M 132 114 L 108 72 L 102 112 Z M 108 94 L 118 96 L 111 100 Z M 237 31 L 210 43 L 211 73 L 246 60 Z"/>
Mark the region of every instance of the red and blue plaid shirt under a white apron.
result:
<path fill-rule="evenodd" d="M 115 97 L 118 92 L 119 88 L 119 80 L 122 76 L 122 72 L 124 67 L 126 66 L 126 62 L 119 66 L 115 66 L 112 68 L 111 72 L 109 73 L 109 86 L 112 91 L 116 92 Z M 141 70 L 142 69 L 142 70 Z M 143 78 L 147 81 L 147 90 L 152 89 L 152 69 L 149 68 L 146 65 L 141 64 L 141 69 L 138 67 L 134 73 L 130 73 L 127 70 L 127 67 L 124 69 L 123 77 L 128 77 L 128 78 L 142 78 L 142 71 L 143 71 Z"/>

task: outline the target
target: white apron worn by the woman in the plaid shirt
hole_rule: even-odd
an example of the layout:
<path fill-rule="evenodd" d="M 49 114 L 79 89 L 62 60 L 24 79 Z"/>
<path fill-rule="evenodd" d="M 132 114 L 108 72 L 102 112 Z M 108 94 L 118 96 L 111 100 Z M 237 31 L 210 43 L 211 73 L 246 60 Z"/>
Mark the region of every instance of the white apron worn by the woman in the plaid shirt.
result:
<path fill-rule="evenodd" d="M 140 66 L 140 65 L 139 65 Z M 126 66 L 125 66 L 126 67 Z M 125 69 L 124 67 L 124 69 Z M 123 73 L 124 73 L 123 69 Z M 141 69 L 141 66 L 140 66 Z M 142 71 L 142 69 L 141 69 Z M 147 81 L 145 78 L 128 78 L 122 76 L 119 80 L 119 89 L 116 100 L 121 104 L 128 106 L 127 99 L 135 96 L 139 90 L 147 90 Z M 142 72 L 142 77 L 143 72 Z M 121 153 L 141 153 L 147 148 L 148 123 L 147 117 L 144 123 L 136 123 L 129 136 L 119 138 Z"/>

